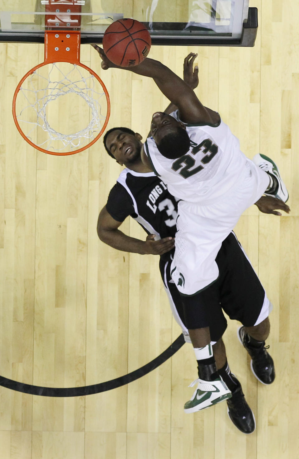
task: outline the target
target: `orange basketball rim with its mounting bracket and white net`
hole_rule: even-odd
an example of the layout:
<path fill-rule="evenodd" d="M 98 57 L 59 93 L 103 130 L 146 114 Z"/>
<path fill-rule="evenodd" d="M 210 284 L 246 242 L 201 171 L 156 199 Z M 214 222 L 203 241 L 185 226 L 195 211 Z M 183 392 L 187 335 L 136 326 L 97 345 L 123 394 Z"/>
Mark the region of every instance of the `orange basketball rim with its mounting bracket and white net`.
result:
<path fill-rule="evenodd" d="M 58 19 L 56 18 L 56 21 L 59 21 L 56 22 L 56 26 L 58 24 L 61 26 L 64 21 L 64 17 L 63 19 L 61 19 L 61 17 Z M 72 29 L 68 30 L 67 28 L 61 30 L 61 27 L 59 30 L 57 28 L 54 30 L 46 30 L 44 62 L 29 70 L 23 76 L 15 90 L 12 101 L 12 113 L 17 129 L 31 146 L 37 148 L 39 151 L 43 151 L 44 153 L 58 156 L 79 153 L 80 151 L 83 151 L 93 145 L 102 135 L 107 126 L 110 116 L 109 94 L 101 78 L 92 69 L 79 61 L 79 55 L 80 32 L 78 30 L 73 31 Z M 55 67 L 54 70 L 56 73 L 58 72 L 60 74 L 62 72 L 57 66 L 59 62 L 73 64 L 73 70 L 67 72 L 66 75 L 63 75 L 61 81 L 58 82 L 59 84 L 56 81 L 57 78 L 54 78 L 54 83 L 51 81 L 51 78 L 48 78 L 49 83 L 51 81 L 51 85 L 43 85 L 42 95 L 40 95 L 40 88 L 33 88 L 37 79 L 40 79 L 43 84 L 46 80 L 44 76 L 40 76 L 38 74 L 39 69 L 48 64 L 52 64 L 52 66 Z M 76 75 L 73 78 L 73 81 L 71 81 L 70 75 L 73 71 Z M 87 77 L 82 76 L 82 72 L 84 72 Z M 82 80 L 80 81 L 78 74 L 82 76 Z M 27 100 L 27 106 L 18 106 L 19 114 L 17 115 L 17 98 L 23 91 L 23 84 L 28 78 L 31 78 L 31 80 L 28 83 L 28 88 L 26 89 L 27 92 L 23 97 L 24 101 Z M 100 90 L 96 91 L 94 88 L 90 89 L 90 80 L 92 80 L 93 85 L 95 82 L 97 86 L 100 85 L 99 88 L 102 92 Z M 89 82 L 88 84 L 86 84 L 87 81 Z M 59 95 L 65 95 L 67 92 L 72 92 L 75 96 L 79 95 L 83 97 L 85 102 L 88 104 L 87 109 L 90 113 L 92 113 L 92 122 L 90 122 L 86 128 L 80 128 L 78 132 L 71 135 L 63 134 L 59 132 L 59 130 L 52 129 L 47 120 L 46 114 L 49 101 L 53 101 Z M 29 97 L 33 97 L 33 99 L 29 100 Z M 101 102 L 99 103 L 100 100 Z M 33 115 L 31 114 L 28 119 L 21 119 L 26 118 L 25 109 L 33 111 Z M 20 126 L 20 123 L 22 124 L 22 127 Z M 24 130 L 26 130 L 24 129 L 24 126 L 25 128 L 26 126 L 29 126 L 27 133 L 24 132 Z M 40 142 L 38 141 L 38 137 L 42 137 Z M 56 148 L 55 151 L 57 143 L 61 144 L 61 147 Z"/>

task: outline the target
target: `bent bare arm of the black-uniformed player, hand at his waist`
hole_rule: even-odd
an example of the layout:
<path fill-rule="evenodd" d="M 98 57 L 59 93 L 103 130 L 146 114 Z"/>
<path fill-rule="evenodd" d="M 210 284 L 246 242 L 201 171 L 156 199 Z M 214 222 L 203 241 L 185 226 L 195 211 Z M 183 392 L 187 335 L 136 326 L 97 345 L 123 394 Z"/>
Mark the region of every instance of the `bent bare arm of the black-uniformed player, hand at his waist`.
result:
<path fill-rule="evenodd" d="M 105 242 L 108 246 L 124 252 L 133 252 L 152 255 L 162 255 L 169 252 L 175 246 L 175 239 L 173 237 L 165 237 L 159 241 L 155 241 L 155 235 L 150 234 L 147 236 L 146 241 L 135 239 L 125 235 L 118 227 L 122 222 L 118 222 L 111 217 L 107 212 L 106 207 L 103 207 L 97 222 L 97 234 L 101 241 Z"/>

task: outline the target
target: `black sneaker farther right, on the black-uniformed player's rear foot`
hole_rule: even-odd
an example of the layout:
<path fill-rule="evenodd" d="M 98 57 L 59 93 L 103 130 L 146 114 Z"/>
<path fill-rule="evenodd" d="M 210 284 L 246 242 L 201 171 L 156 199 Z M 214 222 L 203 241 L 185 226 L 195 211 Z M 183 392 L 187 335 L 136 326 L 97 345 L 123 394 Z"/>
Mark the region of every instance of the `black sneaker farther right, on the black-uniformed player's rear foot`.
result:
<path fill-rule="evenodd" d="M 249 347 L 249 337 L 245 327 L 238 328 L 238 338 L 252 358 L 250 367 L 256 379 L 262 384 L 271 384 L 275 379 L 275 369 L 273 359 L 266 351 L 269 346 L 265 346 L 265 341 L 263 341 L 260 347 Z"/>

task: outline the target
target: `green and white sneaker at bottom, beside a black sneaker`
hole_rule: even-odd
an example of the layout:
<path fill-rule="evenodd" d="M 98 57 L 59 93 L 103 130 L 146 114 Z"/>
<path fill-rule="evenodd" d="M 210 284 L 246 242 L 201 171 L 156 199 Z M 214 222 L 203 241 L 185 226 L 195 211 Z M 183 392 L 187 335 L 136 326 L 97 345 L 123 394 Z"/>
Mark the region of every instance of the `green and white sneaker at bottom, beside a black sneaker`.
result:
<path fill-rule="evenodd" d="M 195 386 L 196 383 L 198 384 L 194 394 L 184 405 L 185 413 L 195 413 L 195 411 L 231 398 L 231 391 L 221 378 L 217 378 L 215 381 L 203 381 L 198 378 L 189 387 Z"/>

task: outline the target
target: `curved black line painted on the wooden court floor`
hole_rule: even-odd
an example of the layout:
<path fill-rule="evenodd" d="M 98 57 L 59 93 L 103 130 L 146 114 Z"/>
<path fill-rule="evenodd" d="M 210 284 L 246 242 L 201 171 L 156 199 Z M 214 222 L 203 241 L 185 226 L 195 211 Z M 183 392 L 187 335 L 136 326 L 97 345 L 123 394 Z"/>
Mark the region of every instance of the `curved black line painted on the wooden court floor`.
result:
<path fill-rule="evenodd" d="M 120 376 L 119 378 L 112 379 L 99 384 L 82 387 L 42 387 L 33 386 L 31 384 L 23 384 L 22 382 L 13 381 L 8 378 L 0 376 L 0 386 L 11 389 L 12 391 L 23 392 L 31 395 L 41 395 L 43 397 L 81 397 L 82 395 L 98 394 L 99 392 L 106 392 L 115 389 L 116 387 L 124 386 L 129 382 L 135 381 L 150 371 L 158 368 L 164 364 L 169 357 L 173 356 L 185 344 L 184 336 L 181 334 L 165 351 L 154 358 L 143 367 L 128 373 L 127 375 Z"/>

